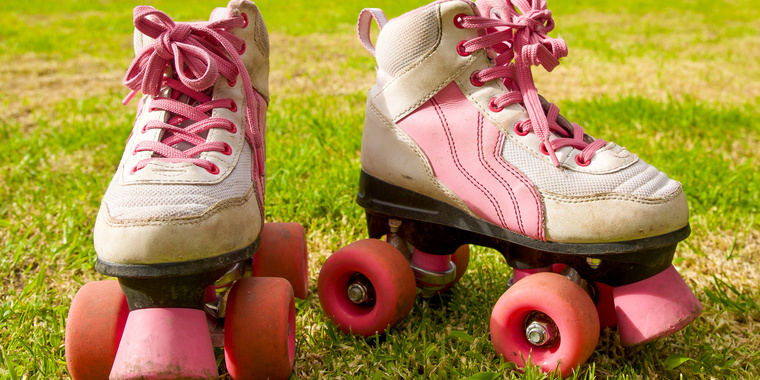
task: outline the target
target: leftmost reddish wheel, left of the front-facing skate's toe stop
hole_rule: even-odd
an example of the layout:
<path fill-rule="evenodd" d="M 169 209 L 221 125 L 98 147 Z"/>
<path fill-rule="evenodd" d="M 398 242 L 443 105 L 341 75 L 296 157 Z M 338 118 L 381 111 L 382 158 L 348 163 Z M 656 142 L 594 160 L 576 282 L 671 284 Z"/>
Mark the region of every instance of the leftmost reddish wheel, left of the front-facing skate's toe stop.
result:
<path fill-rule="evenodd" d="M 117 281 L 85 284 L 66 321 L 66 365 L 74 379 L 107 379 L 129 315 Z"/>

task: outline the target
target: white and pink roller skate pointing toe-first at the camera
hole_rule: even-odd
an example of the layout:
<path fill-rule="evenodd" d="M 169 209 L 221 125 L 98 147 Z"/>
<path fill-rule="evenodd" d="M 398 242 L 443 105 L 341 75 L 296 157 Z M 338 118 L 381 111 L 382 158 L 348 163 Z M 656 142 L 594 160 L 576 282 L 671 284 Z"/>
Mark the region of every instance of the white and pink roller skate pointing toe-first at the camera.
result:
<path fill-rule="evenodd" d="M 95 223 L 96 269 L 72 300 L 74 379 L 287 378 L 294 296 L 306 296 L 304 230 L 264 222 L 269 42 L 254 3 L 210 21 L 134 10 L 142 92 Z"/>

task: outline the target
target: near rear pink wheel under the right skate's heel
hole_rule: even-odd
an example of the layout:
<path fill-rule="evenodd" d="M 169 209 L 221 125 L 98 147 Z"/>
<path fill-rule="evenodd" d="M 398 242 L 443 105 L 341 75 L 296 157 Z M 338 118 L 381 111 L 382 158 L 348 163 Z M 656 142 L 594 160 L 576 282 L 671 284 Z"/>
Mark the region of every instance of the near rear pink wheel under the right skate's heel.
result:
<path fill-rule="evenodd" d="M 392 245 L 376 239 L 351 243 L 333 253 L 319 274 L 319 302 L 345 333 L 383 333 L 414 306 L 414 273 Z"/>

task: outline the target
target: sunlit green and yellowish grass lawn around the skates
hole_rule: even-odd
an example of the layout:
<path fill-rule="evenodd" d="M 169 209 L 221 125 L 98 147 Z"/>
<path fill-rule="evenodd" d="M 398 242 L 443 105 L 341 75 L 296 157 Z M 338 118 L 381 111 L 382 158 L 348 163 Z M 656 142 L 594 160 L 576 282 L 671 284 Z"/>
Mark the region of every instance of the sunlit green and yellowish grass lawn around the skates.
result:
<path fill-rule="evenodd" d="M 138 2 L 0 5 L 0 377 L 66 378 L 70 299 L 93 269 L 92 226 L 131 129 L 121 76 Z M 178 20 L 207 0 L 155 1 Z M 366 236 L 354 204 L 372 57 L 354 37 L 365 6 L 424 1 L 259 1 L 272 39 L 267 219 L 308 231 L 311 295 L 297 303 L 294 378 L 539 379 L 496 356 L 488 317 L 510 269 L 477 249 L 452 291 L 417 300 L 388 334 L 340 333 L 316 296 L 329 254 Z M 223 6 L 223 2 L 218 5 Z M 704 314 L 673 337 L 624 348 L 602 334 L 576 378 L 760 378 L 760 7 L 554 1 L 570 55 L 538 88 L 569 119 L 681 181 L 692 236 L 676 266 Z"/>

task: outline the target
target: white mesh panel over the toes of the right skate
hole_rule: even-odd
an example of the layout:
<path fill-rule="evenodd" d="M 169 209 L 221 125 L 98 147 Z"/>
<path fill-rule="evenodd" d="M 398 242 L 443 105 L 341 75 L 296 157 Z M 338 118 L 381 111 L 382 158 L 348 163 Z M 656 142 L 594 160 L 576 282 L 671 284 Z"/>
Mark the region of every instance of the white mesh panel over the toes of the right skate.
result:
<path fill-rule="evenodd" d="M 572 170 L 554 170 L 554 166 L 505 140 L 502 156 L 522 171 L 539 189 L 566 196 L 604 193 L 660 198 L 678 191 L 680 184 L 638 160 L 635 164 L 610 174 L 589 174 Z"/>

